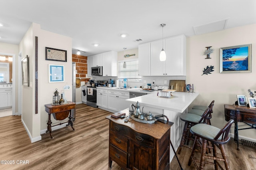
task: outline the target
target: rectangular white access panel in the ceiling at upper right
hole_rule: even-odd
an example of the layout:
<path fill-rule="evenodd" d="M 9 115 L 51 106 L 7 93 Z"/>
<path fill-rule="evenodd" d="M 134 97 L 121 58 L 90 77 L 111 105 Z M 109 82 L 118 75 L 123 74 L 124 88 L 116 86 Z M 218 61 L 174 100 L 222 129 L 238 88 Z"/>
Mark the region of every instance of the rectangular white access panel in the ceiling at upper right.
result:
<path fill-rule="evenodd" d="M 194 26 L 194 33 L 196 35 L 201 35 L 201 34 L 207 34 L 207 33 L 210 33 L 210 32 L 225 30 L 227 22 L 228 22 L 228 18 L 223 19 L 223 20 L 210 22 L 210 23 L 207 23 L 207 24 L 202 24 L 202 25 L 199 25 L 199 26 Z"/>

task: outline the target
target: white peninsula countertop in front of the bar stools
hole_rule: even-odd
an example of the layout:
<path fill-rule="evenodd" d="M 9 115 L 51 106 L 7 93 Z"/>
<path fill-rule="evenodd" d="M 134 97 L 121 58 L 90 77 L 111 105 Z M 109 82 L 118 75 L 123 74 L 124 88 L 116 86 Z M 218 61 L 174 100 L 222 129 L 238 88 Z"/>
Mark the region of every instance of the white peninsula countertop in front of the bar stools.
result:
<path fill-rule="evenodd" d="M 188 106 L 196 99 L 198 93 L 172 92 L 171 98 L 158 97 L 157 91 L 148 95 L 126 99 L 129 103 L 140 103 L 141 106 L 154 107 L 169 111 L 183 113 Z"/>

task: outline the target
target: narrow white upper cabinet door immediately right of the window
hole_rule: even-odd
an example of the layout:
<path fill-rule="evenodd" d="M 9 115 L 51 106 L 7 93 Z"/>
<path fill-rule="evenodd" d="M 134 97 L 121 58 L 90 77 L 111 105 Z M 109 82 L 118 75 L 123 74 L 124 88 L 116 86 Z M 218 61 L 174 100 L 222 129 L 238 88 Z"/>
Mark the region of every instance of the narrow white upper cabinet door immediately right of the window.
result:
<path fill-rule="evenodd" d="M 139 45 L 139 75 L 150 75 L 150 45 L 143 43 Z"/>

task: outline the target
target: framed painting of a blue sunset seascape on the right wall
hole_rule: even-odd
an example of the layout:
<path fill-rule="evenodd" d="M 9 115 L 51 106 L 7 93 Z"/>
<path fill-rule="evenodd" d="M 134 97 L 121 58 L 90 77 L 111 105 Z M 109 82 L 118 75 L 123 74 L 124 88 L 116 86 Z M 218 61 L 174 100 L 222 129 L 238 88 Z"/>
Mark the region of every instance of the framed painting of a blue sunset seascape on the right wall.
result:
<path fill-rule="evenodd" d="M 220 73 L 252 72 L 252 44 L 220 48 Z"/>

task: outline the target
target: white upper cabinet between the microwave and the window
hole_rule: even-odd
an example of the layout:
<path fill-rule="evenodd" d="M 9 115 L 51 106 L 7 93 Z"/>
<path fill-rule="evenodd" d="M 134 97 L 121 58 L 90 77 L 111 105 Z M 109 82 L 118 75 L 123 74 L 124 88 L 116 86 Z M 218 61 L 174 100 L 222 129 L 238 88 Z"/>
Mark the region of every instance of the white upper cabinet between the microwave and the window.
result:
<path fill-rule="evenodd" d="M 103 53 L 103 76 L 117 76 L 117 52 L 108 51 Z"/>

